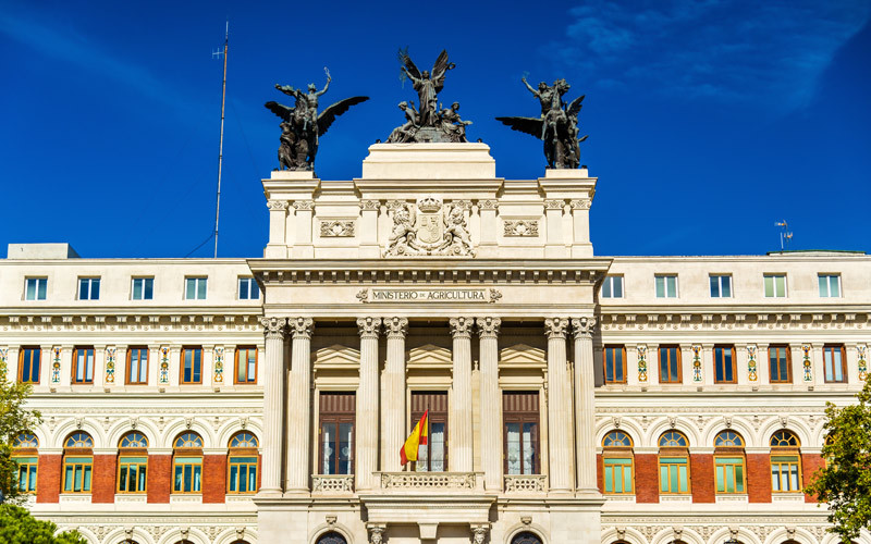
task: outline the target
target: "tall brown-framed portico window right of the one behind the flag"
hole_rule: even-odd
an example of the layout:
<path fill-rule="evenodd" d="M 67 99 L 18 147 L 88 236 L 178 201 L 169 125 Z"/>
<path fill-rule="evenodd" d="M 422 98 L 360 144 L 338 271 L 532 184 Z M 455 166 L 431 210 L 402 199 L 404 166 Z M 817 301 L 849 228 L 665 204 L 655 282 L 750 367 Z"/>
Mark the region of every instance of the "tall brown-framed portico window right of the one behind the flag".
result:
<path fill-rule="evenodd" d="M 538 392 L 502 394 L 506 474 L 539 474 Z"/>

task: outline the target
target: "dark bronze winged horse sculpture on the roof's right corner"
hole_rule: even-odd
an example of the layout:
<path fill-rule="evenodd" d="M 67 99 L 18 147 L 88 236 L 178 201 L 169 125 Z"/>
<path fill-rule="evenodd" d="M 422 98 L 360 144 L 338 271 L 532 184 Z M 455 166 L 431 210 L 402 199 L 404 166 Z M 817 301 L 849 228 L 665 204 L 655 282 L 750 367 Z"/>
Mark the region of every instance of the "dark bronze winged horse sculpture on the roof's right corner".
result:
<path fill-rule="evenodd" d="M 584 95 L 572 100 L 568 104 L 563 102 L 571 86 L 565 79 L 557 79 L 550 86 L 544 82 L 538 84 L 538 89 L 532 88 L 523 78 L 524 85 L 541 102 L 541 116 L 539 118 L 496 118 L 496 121 L 510 126 L 513 131 L 530 134 L 544 143 L 544 158 L 548 166 L 552 169 L 576 169 L 580 164 L 579 144 L 587 136 L 578 137 L 578 114 L 580 113 Z"/>

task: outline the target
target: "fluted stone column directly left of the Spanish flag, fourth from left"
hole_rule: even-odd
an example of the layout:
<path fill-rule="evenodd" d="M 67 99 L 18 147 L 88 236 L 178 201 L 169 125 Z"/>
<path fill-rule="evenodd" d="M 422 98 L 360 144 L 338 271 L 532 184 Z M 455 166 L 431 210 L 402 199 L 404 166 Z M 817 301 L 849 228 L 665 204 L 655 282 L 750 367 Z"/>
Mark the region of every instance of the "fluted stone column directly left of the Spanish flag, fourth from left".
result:
<path fill-rule="evenodd" d="M 398 472 L 400 448 L 405 444 L 405 335 L 408 320 L 405 318 L 384 319 L 388 335 L 388 361 L 384 367 L 384 398 L 382 403 L 382 424 L 384 447 L 381 449 L 381 470 Z"/>

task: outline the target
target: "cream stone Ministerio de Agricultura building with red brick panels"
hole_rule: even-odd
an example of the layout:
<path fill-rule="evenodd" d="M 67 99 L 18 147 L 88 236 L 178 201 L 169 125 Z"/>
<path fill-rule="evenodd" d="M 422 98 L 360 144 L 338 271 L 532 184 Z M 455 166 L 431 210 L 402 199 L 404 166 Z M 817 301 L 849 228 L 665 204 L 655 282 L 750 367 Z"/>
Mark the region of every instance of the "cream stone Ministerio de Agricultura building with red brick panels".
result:
<path fill-rule="evenodd" d="M 597 181 L 377 144 L 263 180 L 262 258 L 11 245 L 29 507 L 93 544 L 836 542 L 801 490 L 867 376 L 871 258 L 596 256 Z"/>

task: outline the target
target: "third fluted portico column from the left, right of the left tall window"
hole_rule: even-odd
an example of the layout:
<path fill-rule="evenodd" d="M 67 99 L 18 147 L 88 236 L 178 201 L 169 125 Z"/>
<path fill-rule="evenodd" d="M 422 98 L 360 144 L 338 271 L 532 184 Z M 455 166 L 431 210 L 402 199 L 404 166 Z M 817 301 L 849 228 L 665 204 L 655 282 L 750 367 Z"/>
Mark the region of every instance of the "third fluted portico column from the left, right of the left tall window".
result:
<path fill-rule="evenodd" d="M 381 318 L 357 320 L 360 334 L 360 384 L 357 387 L 357 490 L 372 489 L 378 470 L 378 335 Z"/>

